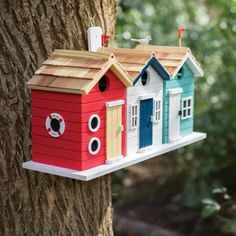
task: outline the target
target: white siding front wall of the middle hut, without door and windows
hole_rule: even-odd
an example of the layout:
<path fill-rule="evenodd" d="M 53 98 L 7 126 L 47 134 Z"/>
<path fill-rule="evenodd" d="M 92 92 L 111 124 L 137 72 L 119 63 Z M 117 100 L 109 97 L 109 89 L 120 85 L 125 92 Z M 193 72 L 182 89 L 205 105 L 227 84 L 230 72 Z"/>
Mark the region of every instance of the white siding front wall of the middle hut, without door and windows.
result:
<path fill-rule="evenodd" d="M 137 153 L 139 149 L 139 121 L 140 121 L 140 103 L 139 96 L 152 95 L 153 99 L 161 101 L 161 120 L 153 124 L 153 147 L 162 144 L 162 108 L 163 108 L 163 81 L 157 72 L 149 66 L 147 71 L 150 76 L 150 81 L 143 86 L 141 79 L 133 86 L 127 88 L 127 155 Z M 138 104 L 138 126 L 136 129 L 130 129 L 130 106 Z"/>

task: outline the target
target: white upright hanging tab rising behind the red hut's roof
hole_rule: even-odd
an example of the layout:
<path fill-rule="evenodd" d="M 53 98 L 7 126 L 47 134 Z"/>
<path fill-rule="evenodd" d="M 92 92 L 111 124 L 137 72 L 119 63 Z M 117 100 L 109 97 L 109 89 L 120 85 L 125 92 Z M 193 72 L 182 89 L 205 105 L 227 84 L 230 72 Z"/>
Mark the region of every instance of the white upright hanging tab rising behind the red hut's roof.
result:
<path fill-rule="evenodd" d="M 102 47 L 102 28 L 99 26 L 88 28 L 88 48 L 90 52 L 96 52 Z"/>

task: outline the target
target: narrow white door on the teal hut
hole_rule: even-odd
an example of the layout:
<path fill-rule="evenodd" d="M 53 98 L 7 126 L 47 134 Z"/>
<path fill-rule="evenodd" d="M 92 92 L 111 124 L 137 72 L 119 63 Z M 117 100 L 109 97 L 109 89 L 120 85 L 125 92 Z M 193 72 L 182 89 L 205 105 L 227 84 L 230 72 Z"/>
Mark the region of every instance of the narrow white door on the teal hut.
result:
<path fill-rule="evenodd" d="M 181 88 L 169 90 L 169 142 L 180 138 L 180 95 Z"/>

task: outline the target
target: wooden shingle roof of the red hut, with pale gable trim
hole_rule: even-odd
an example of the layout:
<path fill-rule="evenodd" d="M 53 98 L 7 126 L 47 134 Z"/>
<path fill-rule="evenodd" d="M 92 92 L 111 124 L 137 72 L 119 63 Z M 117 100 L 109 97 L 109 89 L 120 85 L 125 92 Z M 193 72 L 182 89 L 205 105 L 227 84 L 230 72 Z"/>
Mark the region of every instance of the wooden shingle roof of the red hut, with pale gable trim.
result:
<path fill-rule="evenodd" d="M 31 89 L 87 94 L 111 70 L 126 86 L 132 80 L 111 53 L 55 50 L 27 85 Z"/>

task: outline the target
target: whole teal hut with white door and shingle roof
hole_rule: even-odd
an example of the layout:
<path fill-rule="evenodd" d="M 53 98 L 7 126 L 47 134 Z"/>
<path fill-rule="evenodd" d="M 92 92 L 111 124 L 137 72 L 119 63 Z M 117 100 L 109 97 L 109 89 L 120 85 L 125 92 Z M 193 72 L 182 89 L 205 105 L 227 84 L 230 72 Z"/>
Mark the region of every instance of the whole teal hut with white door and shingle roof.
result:
<path fill-rule="evenodd" d="M 187 47 L 138 45 L 154 51 L 170 74 L 163 83 L 162 141 L 171 143 L 192 134 L 194 126 L 194 84 L 203 70 Z"/>

